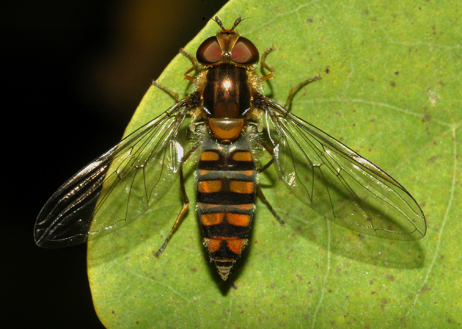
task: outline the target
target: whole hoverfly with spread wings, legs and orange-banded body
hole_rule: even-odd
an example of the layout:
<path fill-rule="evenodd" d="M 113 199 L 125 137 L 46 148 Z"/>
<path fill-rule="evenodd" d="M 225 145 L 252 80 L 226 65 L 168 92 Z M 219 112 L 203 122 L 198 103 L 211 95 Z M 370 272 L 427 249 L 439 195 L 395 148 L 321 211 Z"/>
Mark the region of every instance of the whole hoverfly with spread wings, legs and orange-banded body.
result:
<path fill-rule="evenodd" d="M 158 202 L 179 176 L 184 199 L 157 252 L 164 250 L 189 206 L 183 164 L 196 159 L 200 226 L 211 261 L 225 280 L 245 247 L 257 195 L 283 223 L 258 186 L 258 174 L 275 165 L 287 188 L 337 224 L 395 240 L 425 236 L 422 210 L 393 177 L 335 138 L 265 97 L 256 74 L 257 47 L 220 18 L 217 35 L 198 47 L 184 77 L 195 91 L 146 123 L 71 177 L 45 203 L 35 225 L 42 247 L 95 239 L 136 219 Z M 195 77 L 190 72 L 198 70 Z M 189 120 L 186 120 L 188 118 Z M 266 163 L 262 154 L 269 154 Z M 108 215 L 109 214 L 109 215 Z M 91 227 L 90 227 L 91 224 Z"/>

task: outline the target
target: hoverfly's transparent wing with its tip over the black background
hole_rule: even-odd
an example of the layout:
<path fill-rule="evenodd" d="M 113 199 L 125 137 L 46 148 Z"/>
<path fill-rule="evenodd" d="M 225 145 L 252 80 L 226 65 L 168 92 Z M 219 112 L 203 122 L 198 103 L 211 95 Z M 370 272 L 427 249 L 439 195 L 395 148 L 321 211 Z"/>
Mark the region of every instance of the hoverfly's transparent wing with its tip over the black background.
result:
<path fill-rule="evenodd" d="M 194 102 L 191 95 L 180 100 L 63 184 L 37 218 L 36 243 L 57 248 L 95 239 L 163 197 L 178 175 L 182 123 Z"/>

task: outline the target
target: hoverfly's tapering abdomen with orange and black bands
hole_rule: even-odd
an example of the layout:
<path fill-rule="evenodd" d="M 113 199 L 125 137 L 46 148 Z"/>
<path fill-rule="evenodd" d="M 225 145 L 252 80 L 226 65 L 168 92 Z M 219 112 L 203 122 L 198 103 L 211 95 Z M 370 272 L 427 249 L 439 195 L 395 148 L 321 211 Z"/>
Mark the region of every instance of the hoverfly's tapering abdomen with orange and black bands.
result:
<path fill-rule="evenodd" d="M 197 202 L 204 244 L 223 279 L 247 243 L 257 172 L 245 132 L 231 144 L 206 134 L 197 167 Z"/>

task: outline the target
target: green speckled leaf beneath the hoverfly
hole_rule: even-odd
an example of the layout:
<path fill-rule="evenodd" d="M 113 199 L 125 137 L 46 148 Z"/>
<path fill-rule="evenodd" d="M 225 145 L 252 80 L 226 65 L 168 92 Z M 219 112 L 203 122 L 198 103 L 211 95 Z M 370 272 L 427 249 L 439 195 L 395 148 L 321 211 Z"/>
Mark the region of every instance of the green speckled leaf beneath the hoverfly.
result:
<path fill-rule="evenodd" d="M 280 2 L 280 3 L 278 3 Z M 281 226 L 260 201 L 248 246 L 222 282 L 192 206 L 159 259 L 182 200 L 178 181 L 142 219 L 88 243 L 88 276 L 107 328 L 449 328 L 462 322 L 462 29 L 457 1 L 230 1 L 218 15 L 267 57 L 267 95 L 394 176 L 420 203 L 419 241 L 390 241 L 322 219 L 261 175 Z M 175 22 L 172 22 L 175 24 Z M 185 49 L 195 53 L 209 22 Z M 158 82 L 180 96 L 191 62 L 178 55 Z M 260 68 L 259 68 L 260 72 Z M 128 131 L 173 104 L 150 88 Z M 283 202 L 281 202 L 281 200 Z M 279 201 L 279 202 L 278 202 Z M 457 325 L 456 325 L 457 324 Z"/>

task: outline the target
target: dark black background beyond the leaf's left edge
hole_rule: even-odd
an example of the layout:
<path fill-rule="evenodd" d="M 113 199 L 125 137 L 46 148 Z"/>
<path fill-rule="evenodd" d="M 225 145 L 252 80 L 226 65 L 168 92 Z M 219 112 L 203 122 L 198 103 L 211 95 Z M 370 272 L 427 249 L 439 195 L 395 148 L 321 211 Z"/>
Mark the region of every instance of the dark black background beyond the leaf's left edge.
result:
<path fill-rule="evenodd" d="M 1 283 L 9 328 L 103 328 L 86 244 L 42 249 L 48 197 L 115 144 L 178 49 L 225 0 L 2 3 Z"/>

